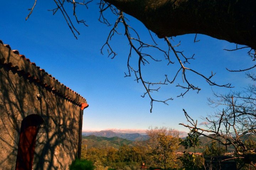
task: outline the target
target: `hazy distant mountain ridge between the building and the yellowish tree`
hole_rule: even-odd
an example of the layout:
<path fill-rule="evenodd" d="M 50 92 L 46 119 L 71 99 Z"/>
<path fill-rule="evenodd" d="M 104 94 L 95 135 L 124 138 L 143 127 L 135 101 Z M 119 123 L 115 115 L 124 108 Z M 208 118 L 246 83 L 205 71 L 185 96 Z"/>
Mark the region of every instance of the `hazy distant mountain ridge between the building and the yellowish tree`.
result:
<path fill-rule="evenodd" d="M 148 135 L 140 135 L 139 133 L 116 133 L 113 131 L 93 132 L 83 136 L 91 136 L 91 135 L 94 135 L 97 137 L 107 137 L 107 138 L 119 137 L 119 138 L 127 139 L 129 141 L 146 141 L 149 139 Z"/>

